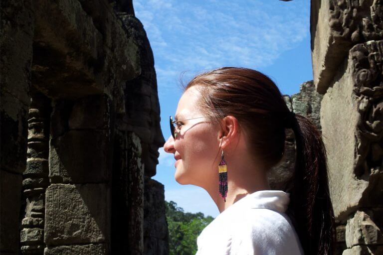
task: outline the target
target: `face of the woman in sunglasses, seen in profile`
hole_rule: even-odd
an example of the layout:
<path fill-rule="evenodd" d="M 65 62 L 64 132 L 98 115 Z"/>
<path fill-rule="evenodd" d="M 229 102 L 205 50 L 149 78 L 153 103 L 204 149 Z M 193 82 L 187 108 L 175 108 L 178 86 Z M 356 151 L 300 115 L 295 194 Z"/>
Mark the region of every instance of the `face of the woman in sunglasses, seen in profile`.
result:
<path fill-rule="evenodd" d="M 220 126 L 213 125 L 207 118 L 182 121 L 208 115 L 198 108 L 199 98 L 196 86 L 184 92 L 175 118 L 180 121 L 180 131 L 175 139 L 173 136 L 168 138 L 164 150 L 178 159 L 175 165 L 178 183 L 205 187 L 212 183 L 212 178 L 217 178 Z"/>

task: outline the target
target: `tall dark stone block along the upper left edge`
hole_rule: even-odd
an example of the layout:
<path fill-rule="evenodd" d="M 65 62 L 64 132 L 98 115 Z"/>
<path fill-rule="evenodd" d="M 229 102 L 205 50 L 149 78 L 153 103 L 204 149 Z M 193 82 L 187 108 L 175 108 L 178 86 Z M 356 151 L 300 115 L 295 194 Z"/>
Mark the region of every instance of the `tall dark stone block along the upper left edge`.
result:
<path fill-rule="evenodd" d="M 26 161 L 26 118 L 32 59 L 31 1 L 4 1 L 0 11 L 0 164 L 2 169 L 9 172 L 22 173 Z M 2 247 L 0 249 L 3 251 Z"/>

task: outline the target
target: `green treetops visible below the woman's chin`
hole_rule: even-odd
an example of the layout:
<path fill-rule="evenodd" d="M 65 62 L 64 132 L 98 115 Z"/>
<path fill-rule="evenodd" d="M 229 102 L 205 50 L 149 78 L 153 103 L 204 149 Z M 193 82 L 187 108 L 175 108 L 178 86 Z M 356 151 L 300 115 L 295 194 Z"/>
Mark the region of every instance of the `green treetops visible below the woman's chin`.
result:
<path fill-rule="evenodd" d="M 185 213 L 173 201 L 165 201 L 165 206 L 169 228 L 169 254 L 195 255 L 198 235 L 214 218 L 204 217 L 203 213 Z"/>

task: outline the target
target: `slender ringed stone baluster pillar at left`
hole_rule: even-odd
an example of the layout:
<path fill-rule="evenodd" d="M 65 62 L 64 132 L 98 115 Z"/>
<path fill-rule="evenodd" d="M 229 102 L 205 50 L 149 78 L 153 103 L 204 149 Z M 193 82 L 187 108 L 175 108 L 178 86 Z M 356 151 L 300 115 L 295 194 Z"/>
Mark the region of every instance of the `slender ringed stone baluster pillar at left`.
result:
<path fill-rule="evenodd" d="M 43 254 L 45 189 L 49 185 L 49 123 L 50 100 L 34 92 L 28 116 L 28 150 L 23 173 L 23 194 L 26 198 L 20 243 L 22 254 Z"/>

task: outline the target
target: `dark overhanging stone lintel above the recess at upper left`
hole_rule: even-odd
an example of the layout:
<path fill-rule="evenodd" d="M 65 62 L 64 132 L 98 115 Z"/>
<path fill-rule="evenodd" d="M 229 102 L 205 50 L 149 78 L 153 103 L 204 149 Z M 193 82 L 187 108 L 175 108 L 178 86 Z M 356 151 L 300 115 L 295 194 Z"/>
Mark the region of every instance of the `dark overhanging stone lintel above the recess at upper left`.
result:
<path fill-rule="evenodd" d="M 38 0 L 34 5 L 38 7 L 33 80 L 45 94 L 78 98 L 105 93 L 112 97 L 114 87 L 121 85 L 115 81 L 140 74 L 137 43 L 127 36 L 107 1 Z"/>

